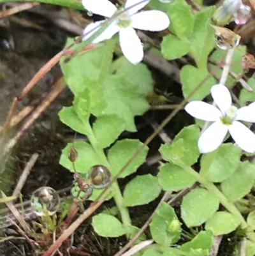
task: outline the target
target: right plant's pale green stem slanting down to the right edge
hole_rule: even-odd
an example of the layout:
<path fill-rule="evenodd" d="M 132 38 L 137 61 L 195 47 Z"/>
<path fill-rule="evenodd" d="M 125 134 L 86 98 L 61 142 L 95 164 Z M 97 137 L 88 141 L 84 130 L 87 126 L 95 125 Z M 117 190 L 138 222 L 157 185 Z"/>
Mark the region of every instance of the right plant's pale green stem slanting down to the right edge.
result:
<path fill-rule="evenodd" d="M 232 215 L 235 215 L 239 218 L 241 223 L 241 228 L 245 230 L 245 234 L 251 241 L 255 243 L 255 233 L 253 230 L 249 228 L 249 225 L 245 222 L 244 217 L 238 211 L 237 207 L 235 207 L 235 204 L 231 203 L 226 199 L 226 197 L 221 193 L 220 190 L 212 183 L 211 181 L 207 181 L 204 177 L 202 177 L 198 172 L 194 171 L 191 167 L 187 167 L 184 164 L 179 164 L 180 167 L 182 167 L 184 170 L 192 174 L 194 177 L 196 177 L 196 180 L 202 184 L 205 188 L 207 188 L 208 191 L 214 193 L 219 198 L 219 201 L 221 202 L 222 206 L 224 206 Z"/>

